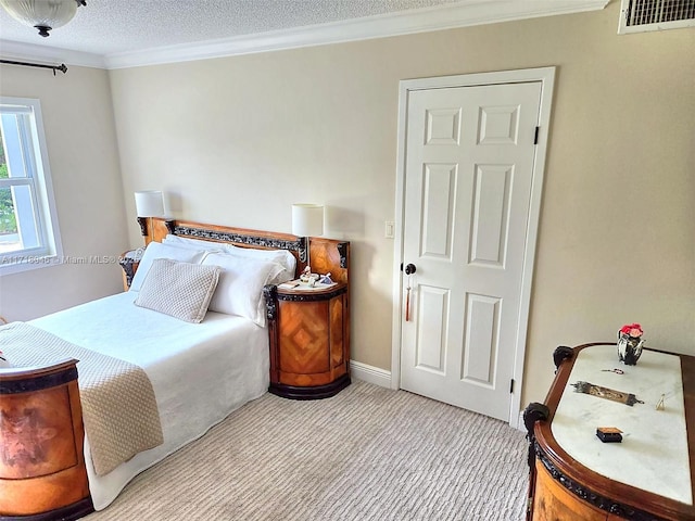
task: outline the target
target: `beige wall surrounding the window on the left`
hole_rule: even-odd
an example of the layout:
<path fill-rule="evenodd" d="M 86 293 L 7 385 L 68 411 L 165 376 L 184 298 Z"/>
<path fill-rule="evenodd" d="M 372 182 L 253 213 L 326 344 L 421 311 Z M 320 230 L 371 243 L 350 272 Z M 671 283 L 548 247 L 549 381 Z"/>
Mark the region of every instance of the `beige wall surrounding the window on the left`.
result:
<path fill-rule="evenodd" d="M 41 102 L 64 256 L 121 254 L 128 242 L 108 73 L 0 65 L 0 94 Z M 109 260 L 1 276 L 0 315 L 28 320 L 117 292 L 121 267 Z"/>

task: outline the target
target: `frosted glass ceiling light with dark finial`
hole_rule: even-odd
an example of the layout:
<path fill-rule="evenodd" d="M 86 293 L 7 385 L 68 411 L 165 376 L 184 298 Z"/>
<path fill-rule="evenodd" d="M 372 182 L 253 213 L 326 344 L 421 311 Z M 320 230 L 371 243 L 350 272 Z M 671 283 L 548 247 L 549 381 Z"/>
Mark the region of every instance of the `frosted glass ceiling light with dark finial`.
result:
<path fill-rule="evenodd" d="M 47 37 L 49 30 L 62 27 L 73 20 L 77 8 L 87 5 L 87 2 L 85 0 L 0 0 L 0 5 L 14 20 L 39 29 L 39 35 Z"/>

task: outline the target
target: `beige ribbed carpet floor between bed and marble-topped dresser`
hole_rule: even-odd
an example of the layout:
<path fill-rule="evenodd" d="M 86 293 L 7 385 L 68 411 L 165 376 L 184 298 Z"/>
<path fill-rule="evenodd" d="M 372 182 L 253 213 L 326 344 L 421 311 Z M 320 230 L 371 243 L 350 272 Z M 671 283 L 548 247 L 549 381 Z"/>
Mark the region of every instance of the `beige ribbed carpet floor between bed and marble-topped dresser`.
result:
<path fill-rule="evenodd" d="M 361 381 L 323 401 L 266 394 L 85 519 L 517 521 L 526 450 L 504 422 Z"/>

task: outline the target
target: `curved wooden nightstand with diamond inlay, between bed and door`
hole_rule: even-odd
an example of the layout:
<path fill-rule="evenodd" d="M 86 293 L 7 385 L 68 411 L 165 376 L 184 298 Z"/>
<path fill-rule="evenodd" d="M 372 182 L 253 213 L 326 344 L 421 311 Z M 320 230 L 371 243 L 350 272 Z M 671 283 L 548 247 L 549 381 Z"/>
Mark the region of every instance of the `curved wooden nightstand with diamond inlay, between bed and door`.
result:
<path fill-rule="evenodd" d="M 270 333 L 269 392 L 293 399 L 333 396 L 350 384 L 348 284 L 265 290 Z"/>

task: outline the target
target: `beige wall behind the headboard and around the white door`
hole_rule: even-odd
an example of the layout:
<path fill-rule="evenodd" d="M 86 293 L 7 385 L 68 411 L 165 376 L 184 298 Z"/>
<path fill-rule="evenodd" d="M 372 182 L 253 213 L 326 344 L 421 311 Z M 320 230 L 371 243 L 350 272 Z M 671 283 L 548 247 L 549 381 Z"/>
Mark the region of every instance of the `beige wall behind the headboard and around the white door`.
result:
<path fill-rule="evenodd" d="M 522 405 L 559 344 L 695 354 L 695 29 L 617 36 L 601 12 L 112 72 L 128 218 L 163 189 L 176 217 L 290 230 L 328 206 L 353 244 L 353 358 L 391 368 L 399 80 L 555 65 Z M 137 230 L 129 228 L 132 245 Z"/>

